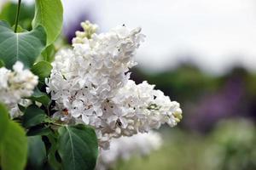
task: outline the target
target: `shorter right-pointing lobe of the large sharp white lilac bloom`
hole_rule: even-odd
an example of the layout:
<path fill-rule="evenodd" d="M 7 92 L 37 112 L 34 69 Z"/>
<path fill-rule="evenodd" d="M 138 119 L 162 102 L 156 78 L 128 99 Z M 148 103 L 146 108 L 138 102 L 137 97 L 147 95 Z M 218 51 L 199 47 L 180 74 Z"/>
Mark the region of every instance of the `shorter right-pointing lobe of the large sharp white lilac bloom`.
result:
<path fill-rule="evenodd" d="M 120 135 L 148 132 L 149 129 L 159 128 L 163 123 L 173 127 L 182 118 L 179 104 L 172 102 L 160 90 L 154 90 L 154 86 L 148 82 L 136 85 L 129 80 L 111 101 L 114 107 L 122 108 L 118 112 L 112 111 L 113 115 L 122 115 L 122 120 L 125 120 L 125 127 L 120 119 L 115 120 L 113 129 L 120 128 Z"/>

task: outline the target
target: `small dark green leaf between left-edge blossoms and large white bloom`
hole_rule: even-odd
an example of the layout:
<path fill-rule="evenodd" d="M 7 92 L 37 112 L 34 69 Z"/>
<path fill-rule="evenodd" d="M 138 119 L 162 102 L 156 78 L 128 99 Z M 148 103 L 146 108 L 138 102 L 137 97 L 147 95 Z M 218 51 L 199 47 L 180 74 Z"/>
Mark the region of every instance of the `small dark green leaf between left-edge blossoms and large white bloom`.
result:
<path fill-rule="evenodd" d="M 41 104 L 43 104 L 44 106 L 48 107 L 49 104 L 50 104 L 50 99 L 48 97 L 47 94 L 41 92 L 38 88 L 35 88 L 34 89 L 34 93 L 32 94 L 32 96 L 30 96 L 29 98 L 27 99 L 32 99 L 34 101 L 38 101 L 40 102 Z"/>

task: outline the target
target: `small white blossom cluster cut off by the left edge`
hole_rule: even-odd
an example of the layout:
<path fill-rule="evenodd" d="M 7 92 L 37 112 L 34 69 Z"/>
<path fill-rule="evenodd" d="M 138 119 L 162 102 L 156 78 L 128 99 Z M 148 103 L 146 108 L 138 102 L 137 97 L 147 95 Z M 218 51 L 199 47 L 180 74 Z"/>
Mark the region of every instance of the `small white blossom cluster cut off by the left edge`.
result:
<path fill-rule="evenodd" d="M 25 105 L 27 100 L 22 99 L 32 95 L 38 85 L 38 77 L 31 71 L 24 69 L 24 65 L 17 61 L 13 71 L 0 68 L 0 102 L 9 106 L 10 116 L 19 116 L 17 104 Z"/>

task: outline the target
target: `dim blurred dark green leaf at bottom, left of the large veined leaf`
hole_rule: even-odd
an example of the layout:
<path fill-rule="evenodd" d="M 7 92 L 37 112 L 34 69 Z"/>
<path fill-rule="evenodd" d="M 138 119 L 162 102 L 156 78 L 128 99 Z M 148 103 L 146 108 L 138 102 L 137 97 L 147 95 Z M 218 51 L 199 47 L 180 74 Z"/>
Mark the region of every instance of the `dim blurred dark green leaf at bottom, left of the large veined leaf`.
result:
<path fill-rule="evenodd" d="M 28 137 L 28 166 L 43 169 L 46 149 L 41 136 Z"/>

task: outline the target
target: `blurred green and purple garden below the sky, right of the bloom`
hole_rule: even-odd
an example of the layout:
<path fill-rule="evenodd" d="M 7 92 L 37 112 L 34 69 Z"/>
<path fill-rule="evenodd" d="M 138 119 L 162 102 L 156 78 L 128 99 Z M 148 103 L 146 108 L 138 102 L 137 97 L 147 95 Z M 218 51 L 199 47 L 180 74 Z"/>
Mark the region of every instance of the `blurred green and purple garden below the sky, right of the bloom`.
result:
<path fill-rule="evenodd" d="M 160 150 L 120 161 L 115 169 L 256 169 L 254 74 L 234 68 L 213 77 L 188 64 L 155 75 L 134 72 L 137 82 L 148 80 L 180 102 L 183 121 L 160 129 Z"/>

